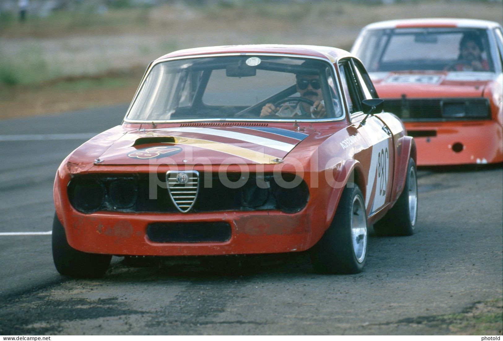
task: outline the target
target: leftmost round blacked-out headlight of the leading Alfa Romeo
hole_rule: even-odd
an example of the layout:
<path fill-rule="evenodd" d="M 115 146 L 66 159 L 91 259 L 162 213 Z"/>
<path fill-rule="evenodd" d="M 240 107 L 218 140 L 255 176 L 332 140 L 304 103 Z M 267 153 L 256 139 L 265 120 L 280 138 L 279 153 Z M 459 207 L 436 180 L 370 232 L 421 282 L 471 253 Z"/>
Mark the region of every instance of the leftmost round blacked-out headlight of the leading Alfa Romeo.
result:
<path fill-rule="evenodd" d="M 97 211 L 105 200 L 105 186 L 97 179 L 74 178 L 68 183 L 71 205 L 81 212 Z"/>

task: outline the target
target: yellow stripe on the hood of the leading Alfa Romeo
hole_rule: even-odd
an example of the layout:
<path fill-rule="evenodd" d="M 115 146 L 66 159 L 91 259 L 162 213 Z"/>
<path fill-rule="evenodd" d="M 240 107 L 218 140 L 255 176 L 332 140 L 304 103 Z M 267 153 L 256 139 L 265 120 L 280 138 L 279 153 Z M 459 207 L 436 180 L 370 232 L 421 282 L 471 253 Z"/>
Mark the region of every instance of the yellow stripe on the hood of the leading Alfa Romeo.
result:
<path fill-rule="evenodd" d="M 225 143 L 215 142 L 215 141 L 207 141 L 201 139 L 192 139 L 187 137 L 175 137 L 175 143 L 179 145 L 186 145 L 192 147 L 199 147 L 204 149 L 209 149 L 217 152 L 222 152 L 226 154 L 230 154 L 233 156 L 237 156 L 243 159 L 247 159 L 250 161 L 254 161 L 260 164 L 269 164 L 275 163 L 273 162 L 276 159 L 276 156 L 268 155 L 265 153 L 249 150 L 246 148 L 241 148 L 233 145 L 228 145 Z"/>

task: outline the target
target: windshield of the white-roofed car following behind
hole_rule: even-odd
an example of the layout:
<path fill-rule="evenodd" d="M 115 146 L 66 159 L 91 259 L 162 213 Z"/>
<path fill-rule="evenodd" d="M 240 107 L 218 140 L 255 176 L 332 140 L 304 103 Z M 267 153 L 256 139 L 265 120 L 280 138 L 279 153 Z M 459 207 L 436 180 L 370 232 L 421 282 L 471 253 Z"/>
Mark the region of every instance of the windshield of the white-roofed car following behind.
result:
<path fill-rule="evenodd" d="M 403 28 L 369 30 L 354 53 L 375 71 L 494 71 L 485 30 Z"/>

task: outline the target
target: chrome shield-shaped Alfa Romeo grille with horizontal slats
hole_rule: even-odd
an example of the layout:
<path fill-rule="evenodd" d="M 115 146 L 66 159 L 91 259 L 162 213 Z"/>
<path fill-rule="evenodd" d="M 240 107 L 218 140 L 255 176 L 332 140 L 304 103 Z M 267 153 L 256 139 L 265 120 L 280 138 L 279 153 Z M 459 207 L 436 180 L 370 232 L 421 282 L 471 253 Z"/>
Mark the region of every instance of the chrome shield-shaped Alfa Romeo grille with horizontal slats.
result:
<path fill-rule="evenodd" d="M 199 191 L 198 171 L 167 171 L 167 191 L 180 212 L 188 212 Z"/>

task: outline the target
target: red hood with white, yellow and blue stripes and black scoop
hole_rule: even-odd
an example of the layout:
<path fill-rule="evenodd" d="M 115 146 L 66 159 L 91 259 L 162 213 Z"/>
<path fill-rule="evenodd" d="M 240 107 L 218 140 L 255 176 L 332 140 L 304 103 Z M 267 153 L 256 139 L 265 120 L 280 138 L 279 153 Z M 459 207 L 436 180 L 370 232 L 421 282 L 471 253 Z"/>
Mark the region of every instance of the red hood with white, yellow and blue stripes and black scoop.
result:
<path fill-rule="evenodd" d="M 95 164 L 274 164 L 311 133 L 253 125 L 135 129 L 109 136 Z"/>

